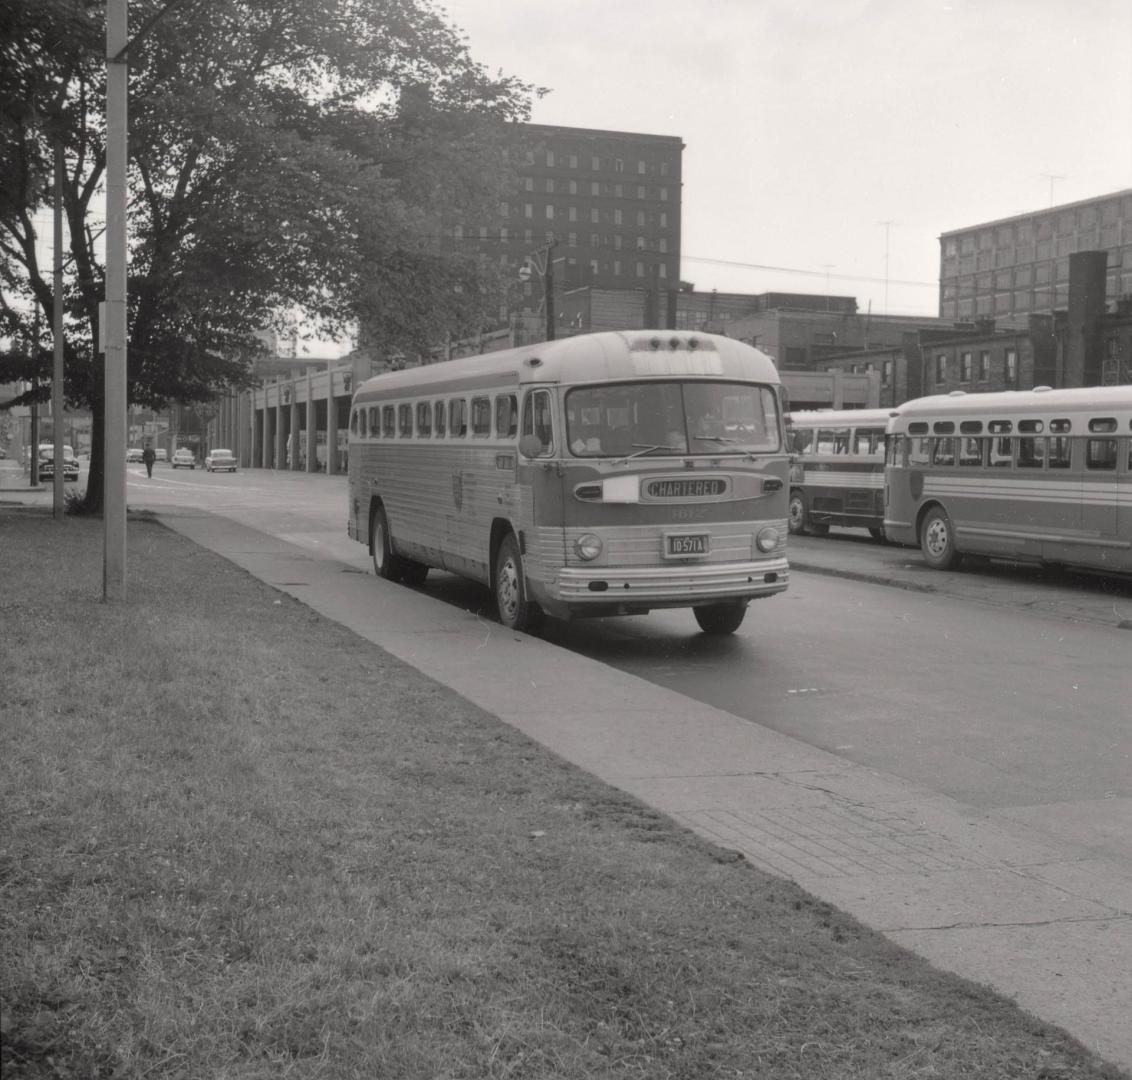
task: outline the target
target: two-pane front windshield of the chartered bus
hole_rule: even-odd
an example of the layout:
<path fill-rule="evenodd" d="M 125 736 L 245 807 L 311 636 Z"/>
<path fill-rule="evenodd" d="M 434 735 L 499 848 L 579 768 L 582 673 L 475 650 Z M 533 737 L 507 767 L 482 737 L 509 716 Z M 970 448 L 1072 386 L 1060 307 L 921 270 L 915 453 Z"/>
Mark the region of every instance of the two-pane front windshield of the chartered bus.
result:
<path fill-rule="evenodd" d="M 566 394 L 566 443 L 575 457 L 774 453 L 778 398 L 749 383 L 580 386 Z"/>

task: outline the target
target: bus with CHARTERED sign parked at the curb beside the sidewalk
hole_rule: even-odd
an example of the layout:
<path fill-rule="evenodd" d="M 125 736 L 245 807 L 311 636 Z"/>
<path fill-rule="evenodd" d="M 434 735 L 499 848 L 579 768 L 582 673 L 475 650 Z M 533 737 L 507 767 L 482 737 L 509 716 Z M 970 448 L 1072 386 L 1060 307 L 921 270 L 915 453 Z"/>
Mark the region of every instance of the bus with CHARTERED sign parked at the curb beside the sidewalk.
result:
<path fill-rule="evenodd" d="M 586 334 L 378 375 L 349 462 L 376 573 L 474 578 L 516 629 L 685 607 L 728 634 L 787 588 L 779 376 L 731 338 Z"/>

